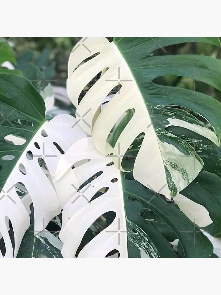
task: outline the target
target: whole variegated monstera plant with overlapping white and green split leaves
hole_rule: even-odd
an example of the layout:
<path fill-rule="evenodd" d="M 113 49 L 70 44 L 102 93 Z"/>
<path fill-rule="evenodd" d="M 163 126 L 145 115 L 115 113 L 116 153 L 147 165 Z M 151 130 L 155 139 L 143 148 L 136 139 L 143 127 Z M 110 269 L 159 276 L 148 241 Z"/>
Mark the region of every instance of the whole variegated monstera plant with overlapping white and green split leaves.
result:
<path fill-rule="evenodd" d="M 175 75 L 221 91 L 220 60 L 154 54 L 187 42 L 220 47 L 79 39 L 67 80 L 76 118 L 45 117 L 27 78 L 0 74 L 1 257 L 221 257 L 221 104 L 157 83 Z"/>

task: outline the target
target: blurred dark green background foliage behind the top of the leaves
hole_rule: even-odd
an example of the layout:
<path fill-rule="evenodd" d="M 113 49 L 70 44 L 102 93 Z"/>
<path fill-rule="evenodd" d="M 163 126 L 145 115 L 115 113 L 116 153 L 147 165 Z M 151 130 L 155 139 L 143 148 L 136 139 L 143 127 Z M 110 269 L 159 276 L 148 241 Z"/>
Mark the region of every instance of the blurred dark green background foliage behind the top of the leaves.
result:
<path fill-rule="evenodd" d="M 9 37 L 4 37 L 6 40 Z M 77 37 L 80 38 L 80 37 Z M 112 37 L 107 37 L 112 40 Z M 25 71 L 27 63 L 32 63 L 41 71 L 44 68 L 45 77 L 52 79 L 51 84 L 66 86 L 68 58 L 74 45 L 76 37 L 12 37 L 9 44 L 16 51 L 16 68 Z M 202 54 L 221 59 L 221 49 L 214 45 L 204 43 L 183 43 L 166 47 L 166 53 L 161 49 L 154 51 L 154 55 L 174 54 Z M 27 75 L 29 76 L 29 75 Z M 99 75 L 95 78 L 98 79 Z M 91 81 L 95 82 L 94 79 Z M 164 76 L 155 80 L 156 83 L 168 86 L 177 86 L 192 89 L 208 94 L 221 101 L 220 93 L 205 82 L 194 81 L 193 79 L 179 76 Z M 195 82 L 195 83 L 194 83 Z M 89 87 L 88 87 L 89 86 Z M 90 85 L 85 86 L 85 92 Z"/>

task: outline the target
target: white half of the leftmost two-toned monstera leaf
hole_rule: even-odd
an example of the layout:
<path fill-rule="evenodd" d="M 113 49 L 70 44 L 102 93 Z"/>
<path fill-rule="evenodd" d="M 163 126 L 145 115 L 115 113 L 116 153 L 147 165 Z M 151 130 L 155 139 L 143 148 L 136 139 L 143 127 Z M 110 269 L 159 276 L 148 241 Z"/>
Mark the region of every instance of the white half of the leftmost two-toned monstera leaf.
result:
<path fill-rule="evenodd" d="M 4 212 L 4 216 L 1 216 L 0 232 L 6 249 L 5 258 L 16 257 L 18 253 L 24 233 L 29 228 L 29 207 L 32 203 L 34 233 L 37 233 L 44 230 L 50 220 L 60 214 L 71 197 L 72 191 L 68 191 L 62 178 L 54 186 L 50 179 L 55 173 L 62 151 L 65 152 L 70 145 L 85 136 L 80 128 L 75 128 L 73 132 L 73 124 L 74 118 L 65 114 L 45 122 L 25 148 L 4 184 L 0 193 L 0 212 Z M 44 163 L 47 170 L 44 171 L 41 163 Z M 19 196 L 17 183 L 22 184 L 29 194 Z M 14 242 L 8 234 L 9 220 L 14 231 Z M 2 253 L 0 256 L 3 257 Z"/>

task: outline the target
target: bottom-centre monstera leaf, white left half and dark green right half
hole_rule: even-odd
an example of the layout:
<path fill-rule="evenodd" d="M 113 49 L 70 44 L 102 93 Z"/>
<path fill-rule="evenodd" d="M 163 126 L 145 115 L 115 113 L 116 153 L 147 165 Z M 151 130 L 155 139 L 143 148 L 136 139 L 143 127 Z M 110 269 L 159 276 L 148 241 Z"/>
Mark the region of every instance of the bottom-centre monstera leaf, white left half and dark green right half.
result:
<path fill-rule="evenodd" d="M 197 225 L 174 202 L 134 180 L 133 173 L 120 172 L 110 156 L 98 152 L 92 137 L 75 142 L 62 155 L 53 183 L 65 179 L 71 167 L 72 181 L 66 186 L 76 192 L 62 211 L 59 237 L 64 258 L 105 258 L 114 251 L 120 258 L 177 258 L 169 243 L 177 237 L 183 257 L 211 257 L 212 244 Z M 201 205 L 181 195 L 179 201 L 186 201 L 182 207 L 188 217 L 198 212 L 196 223 L 212 222 Z M 90 237 L 95 222 L 110 212 L 111 221 Z"/>

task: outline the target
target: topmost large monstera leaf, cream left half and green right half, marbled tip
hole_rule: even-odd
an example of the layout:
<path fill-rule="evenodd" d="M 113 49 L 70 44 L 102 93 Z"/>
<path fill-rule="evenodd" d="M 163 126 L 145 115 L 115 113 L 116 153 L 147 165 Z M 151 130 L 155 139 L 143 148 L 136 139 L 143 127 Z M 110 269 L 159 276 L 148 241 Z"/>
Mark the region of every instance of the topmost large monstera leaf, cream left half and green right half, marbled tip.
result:
<path fill-rule="evenodd" d="M 217 37 L 115 37 L 113 42 L 105 37 L 83 38 L 70 55 L 67 91 L 77 106 L 80 126 L 92 135 L 102 154 L 113 154 L 116 165 L 121 164 L 135 138 L 144 133 L 134 178 L 171 199 L 197 177 L 204 164 L 204 158 L 182 135 L 190 130 L 219 147 L 221 104 L 202 93 L 157 85 L 154 79 L 177 75 L 205 81 L 221 90 L 221 61 L 203 55 L 165 55 L 163 51 L 163 56 L 153 56 L 159 40 L 165 48 L 184 42 L 220 46 Z M 88 61 L 82 64 L 85 59 Z M 101 71 L 99 80 L 79 103 L 82 89 Z M 120 91 L 98 115 L 102 101 L 117 85 L 121 85 Z M 128 109 L 134 110 L 133 117 L 112 148 L 108 135 Z M 189 111 L 199 114 L 204 122 Z M 174 126 L 180 127 L 178 135 L 170 128 Z M 205 154 L 207 148 L 202 147 Z"/>

